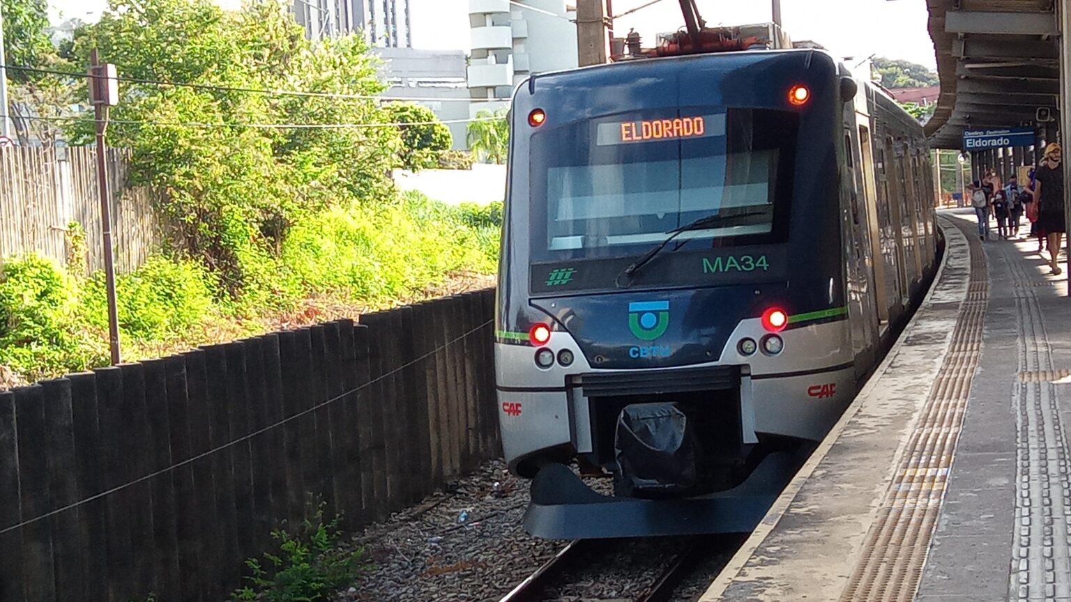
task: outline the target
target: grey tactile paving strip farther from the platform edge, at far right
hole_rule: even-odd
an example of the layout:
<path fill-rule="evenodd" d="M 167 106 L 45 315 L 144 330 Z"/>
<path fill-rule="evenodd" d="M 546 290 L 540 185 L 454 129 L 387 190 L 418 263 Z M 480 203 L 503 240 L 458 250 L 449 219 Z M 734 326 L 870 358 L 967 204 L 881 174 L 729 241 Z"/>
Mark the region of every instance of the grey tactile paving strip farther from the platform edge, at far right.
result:
<path fill-rule="evenodd" d="M 1054 380 L 1071 371 L 1054 370 L 1035 286 L 1023 261 L 1009 267 L 1019 319 L 1019 379 L 1015 410 L 1015 541 L 1009 600 L 1071 600 L 1071 484 L 1068 446 Z M 1051 284 L 1051 283 L 1045 283 Z"/>

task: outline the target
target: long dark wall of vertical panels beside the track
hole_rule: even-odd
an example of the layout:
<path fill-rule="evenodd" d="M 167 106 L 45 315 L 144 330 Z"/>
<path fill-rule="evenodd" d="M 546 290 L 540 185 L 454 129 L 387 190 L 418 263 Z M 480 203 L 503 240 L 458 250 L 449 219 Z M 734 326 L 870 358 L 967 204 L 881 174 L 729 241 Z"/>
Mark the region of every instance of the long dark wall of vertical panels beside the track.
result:
<path fill-rule="evenodd" d="M 220 602 L 499 454 L 489 290 L 0 393 L 0 600 Z"/>

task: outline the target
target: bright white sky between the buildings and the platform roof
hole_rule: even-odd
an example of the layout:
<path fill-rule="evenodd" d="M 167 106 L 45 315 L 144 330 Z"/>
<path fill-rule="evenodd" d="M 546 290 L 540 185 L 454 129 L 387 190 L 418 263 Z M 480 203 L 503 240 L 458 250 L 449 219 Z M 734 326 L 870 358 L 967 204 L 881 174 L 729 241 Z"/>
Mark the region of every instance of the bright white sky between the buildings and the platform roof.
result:
<path fill-rule="evenodd" d="M 523 0 L 521 0 L 523 1 Z M 614 0 L 623 13 L 649 0 Z M 468 0 L 409 0 L 412 42 L 418 48 L 469 49 Z M 221 0 L 235 6 L 240 0 Z M 564 4 L 564 0 L 562 4 Z M 570 2 L 572 3 L 572 2 Z M 105 0 L 50 0 L 52 16 L 92 20 Z M 744 25 L 770 20 L 767 0 L 696 0 L 708 25 Z M 906 59 L 935 69 L 926 31 L 925 0 L 782 0 L 782 20 L 793 40 L 812 40 L 838 57 L 860 60 L 876 55 Z M 615 22 L 619 35 L 633 27 L 645 40 L 683 25 L 676 0 L 662 0 Z M 849 65 L 850 66 L 850 65 Z"/>

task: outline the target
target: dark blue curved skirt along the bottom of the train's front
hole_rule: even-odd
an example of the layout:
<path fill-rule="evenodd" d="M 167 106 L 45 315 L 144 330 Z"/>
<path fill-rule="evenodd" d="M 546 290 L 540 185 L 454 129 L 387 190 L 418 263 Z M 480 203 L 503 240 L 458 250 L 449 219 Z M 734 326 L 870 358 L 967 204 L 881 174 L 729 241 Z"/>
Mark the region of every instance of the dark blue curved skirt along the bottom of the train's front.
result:
<path fill-rule="evenodd" d="M 750 532 L 805 457 L 773 452 L 731 490 L 677 499 L 605 496 L 568 466 L 548 464 L 532 480 L 525 530 L 547 539 Z"/>

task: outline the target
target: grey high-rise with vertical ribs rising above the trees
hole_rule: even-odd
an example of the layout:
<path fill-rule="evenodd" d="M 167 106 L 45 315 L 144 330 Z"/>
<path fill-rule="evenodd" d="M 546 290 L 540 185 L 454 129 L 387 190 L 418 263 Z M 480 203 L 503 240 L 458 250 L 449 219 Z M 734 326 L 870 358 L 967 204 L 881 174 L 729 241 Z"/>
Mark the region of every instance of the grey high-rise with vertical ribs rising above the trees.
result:
<path fill-rule="evenodd" d="M 412 46 L 409 0 L 293 0 L 293 16 L 313 40 L 364 31 L 373 46 Z"/>

